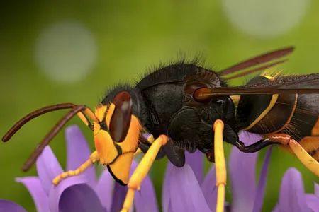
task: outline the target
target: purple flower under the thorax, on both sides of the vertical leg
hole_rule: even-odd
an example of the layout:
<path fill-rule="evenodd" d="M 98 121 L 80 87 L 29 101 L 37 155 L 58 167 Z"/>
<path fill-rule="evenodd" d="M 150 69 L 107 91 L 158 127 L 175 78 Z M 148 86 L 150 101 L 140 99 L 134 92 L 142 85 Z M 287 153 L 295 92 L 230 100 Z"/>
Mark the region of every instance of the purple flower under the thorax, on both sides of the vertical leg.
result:
<path fill-rule="evenodd" d="M 254 143 L 260 136 L 243 133 L 242 141 Z M 231 211 L 260 211 L 264 198 L 264 186 L 271 149 L 269 149 L 262 167 L 262 177 L 256 185 L 255 167 L 257 153 L 241 153 L 233 148 L 230 154 L 229 168 L 233 202 Z M 178 168 L 169 164 L 163 187 L 163 211 L 215 211 L 217 189 L 214 165 L 203 176 L 203 153 L 186 154 L 186 165 Z"/>

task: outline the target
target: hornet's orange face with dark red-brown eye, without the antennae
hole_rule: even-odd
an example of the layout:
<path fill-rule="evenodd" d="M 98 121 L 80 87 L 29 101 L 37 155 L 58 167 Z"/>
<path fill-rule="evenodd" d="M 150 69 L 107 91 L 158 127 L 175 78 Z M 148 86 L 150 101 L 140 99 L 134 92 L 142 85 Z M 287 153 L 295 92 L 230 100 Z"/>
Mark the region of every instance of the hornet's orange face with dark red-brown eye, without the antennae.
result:
<path fill-rule="evenodd" d="M 121 184 L 128 183 L 133 155 L 138 149 L 142 124 L 140 95 L 135 90 L 113 90 L 96 108 L 94 143 L 100 162 Z"/>

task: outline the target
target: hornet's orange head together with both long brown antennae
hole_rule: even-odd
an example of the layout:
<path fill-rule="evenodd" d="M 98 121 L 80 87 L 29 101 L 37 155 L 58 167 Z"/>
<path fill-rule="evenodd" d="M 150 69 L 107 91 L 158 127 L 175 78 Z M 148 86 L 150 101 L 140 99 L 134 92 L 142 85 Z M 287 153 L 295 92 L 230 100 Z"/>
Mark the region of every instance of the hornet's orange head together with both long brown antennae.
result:
<path fill-rule="evenodd" d="M 124 89 L 118 86 L 110 95 L 107 95 L 101 105 L 96 107 L 95 113 L 86 105 L 75 105 L 73 103 L 42 107 L 16 122 L 3 136 L 2 141 L 9 141 L 24 124 L 40 115 L 56 110 L 69 109 L 69 112 L 55 124 L 35 148 L 23 165 L 22 170 L 29 170 L 45 146 L 50 143 L 72 117 L 77 115 L 94 132 L 94 143 L 100 162 L 103 165 L 107 165 L 111 175 L 118 182 L 127 184 L 133 154 L 138 149 L 138 141 L 142 129 L 140 120 L 145 120 L 145 117 L 141 114 L 146 114 L 142 112 L 145 107 L 142 107 L 140 96 L 137 91 L 131 88 Z M 142 118 L 138 119 L 138 117 Z"/>

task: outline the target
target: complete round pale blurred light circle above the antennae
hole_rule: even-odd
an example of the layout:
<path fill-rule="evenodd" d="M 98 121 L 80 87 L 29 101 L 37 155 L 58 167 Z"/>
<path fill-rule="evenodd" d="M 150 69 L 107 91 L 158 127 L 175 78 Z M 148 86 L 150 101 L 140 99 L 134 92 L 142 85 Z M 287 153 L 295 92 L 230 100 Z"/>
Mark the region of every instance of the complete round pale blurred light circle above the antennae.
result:
<path fill-rule="evenodd" d="M 40 70 L 62 83 L 82 80 L 93 69 L 96 55 L 94 36 L 75 21 L 50 25 L 35 43 L 35 61 Z"/>

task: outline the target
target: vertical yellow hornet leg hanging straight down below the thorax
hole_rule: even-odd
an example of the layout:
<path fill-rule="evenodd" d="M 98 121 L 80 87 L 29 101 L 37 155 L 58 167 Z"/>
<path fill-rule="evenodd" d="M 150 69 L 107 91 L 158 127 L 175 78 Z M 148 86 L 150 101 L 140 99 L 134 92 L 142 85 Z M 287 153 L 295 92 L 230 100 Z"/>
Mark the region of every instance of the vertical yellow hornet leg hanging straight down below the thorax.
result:
<path fill-rule="evenodd" d="M 216 212 L 223 212 L 224 204 L 225 204 L 225 184 L 227 180 L 227 172 L 226 172 L 225 155 L 224 155 L 224 147 L 223 147 L 223 129 L 224 129 L 223 121 L 216 120 L 216 122 L 214 123 L 216 187 L 218 189 Z"/>

